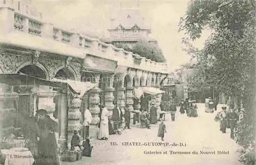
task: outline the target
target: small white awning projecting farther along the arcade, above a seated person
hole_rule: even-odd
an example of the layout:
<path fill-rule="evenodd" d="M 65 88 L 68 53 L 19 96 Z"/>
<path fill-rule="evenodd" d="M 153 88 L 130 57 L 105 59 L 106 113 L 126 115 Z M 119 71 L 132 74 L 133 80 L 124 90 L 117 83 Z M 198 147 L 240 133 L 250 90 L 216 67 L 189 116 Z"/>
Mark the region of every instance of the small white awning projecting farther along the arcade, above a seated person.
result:
<path fill-rule="evenodd" d="M 153 96 L 160 95 L 161 93 L 166 93 L 166 91 L 160 90 L 152 86 L 140 86 L 134 88 L 134 97 L 139 99 L 143 93 L 147 93 Z"/>

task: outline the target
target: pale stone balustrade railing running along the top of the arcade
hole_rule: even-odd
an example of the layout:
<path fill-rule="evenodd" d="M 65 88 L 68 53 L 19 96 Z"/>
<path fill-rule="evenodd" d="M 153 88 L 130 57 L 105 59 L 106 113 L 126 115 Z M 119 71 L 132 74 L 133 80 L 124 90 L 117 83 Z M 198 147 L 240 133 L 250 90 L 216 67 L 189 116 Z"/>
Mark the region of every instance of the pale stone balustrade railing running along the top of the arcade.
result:
<path fill-rule="evenodd" d="M 115 48 L 112 44 L 99 41 L 99 38 L 91 38 L 75 31 L 58 28 L 28 13 L 24 14 L 19 10 L 17 11 L 12 6 L 6 6 L 6 4 L 2 6 L 0 8 L 0 17 L 2 17 L 0 20 L 2 20 L 2 24 L 0 23 L 0 25 L 3 27 L 0 28 L 0 30 L 2 29 L 0 36 L 1 33 L 4 35 L 13 31 L 36 35 L 71 45 L 74 50 L 83 49 L 96 56 L 117 60 L 118 65 L 167 74 L 166 63 L 158 63 L 132 52 Z"/>

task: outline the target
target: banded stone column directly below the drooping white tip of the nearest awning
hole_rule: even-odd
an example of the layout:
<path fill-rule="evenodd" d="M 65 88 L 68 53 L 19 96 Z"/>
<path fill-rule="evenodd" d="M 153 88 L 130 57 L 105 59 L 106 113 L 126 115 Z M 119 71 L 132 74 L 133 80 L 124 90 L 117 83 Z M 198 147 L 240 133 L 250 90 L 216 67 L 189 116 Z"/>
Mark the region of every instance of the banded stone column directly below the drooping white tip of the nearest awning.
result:
<path fill-rule="evenodd" d="M 69 112 L 68 112 L 68 147 L 70 148 L 71 138 L 74 134 L 74 130 L 76 129 L 78 132 L 81 130 L 82 125 L 80 123 L 81 120 L 81 99 L 72 98 L 70 103 Z"/>

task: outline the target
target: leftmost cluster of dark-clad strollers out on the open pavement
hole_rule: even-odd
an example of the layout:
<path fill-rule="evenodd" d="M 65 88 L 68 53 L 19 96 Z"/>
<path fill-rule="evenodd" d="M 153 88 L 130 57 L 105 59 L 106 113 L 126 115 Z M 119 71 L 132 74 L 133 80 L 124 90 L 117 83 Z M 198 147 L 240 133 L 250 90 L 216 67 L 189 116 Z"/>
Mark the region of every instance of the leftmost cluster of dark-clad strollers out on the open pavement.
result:
<path fill-rule="evenodd" d="M 180 113 L 186 112 L 188 117 L 198 117 L 196 100 L 184 99 L 180 103 Z"/>

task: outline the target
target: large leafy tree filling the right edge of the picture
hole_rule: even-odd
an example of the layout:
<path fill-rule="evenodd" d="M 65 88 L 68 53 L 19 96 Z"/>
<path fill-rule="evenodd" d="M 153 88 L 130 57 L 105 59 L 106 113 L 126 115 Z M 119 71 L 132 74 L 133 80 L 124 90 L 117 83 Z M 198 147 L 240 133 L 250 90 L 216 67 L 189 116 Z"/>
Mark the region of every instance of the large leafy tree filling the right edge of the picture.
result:
<path fill-rule="evenodd" d="M 255 164 L 255 7 L 246 0 L 195 0 L 180 21 L 186 45 L 199 38 L 204 28 L 210 37 L 195 51 L 200 74 L 210 87 L 225 92 L 244 106 L 244 119 L 237 127 L 236 142 L 242 147 L 240 161 Z M 193 50 L 189 45 L 188 50 Z"/>

